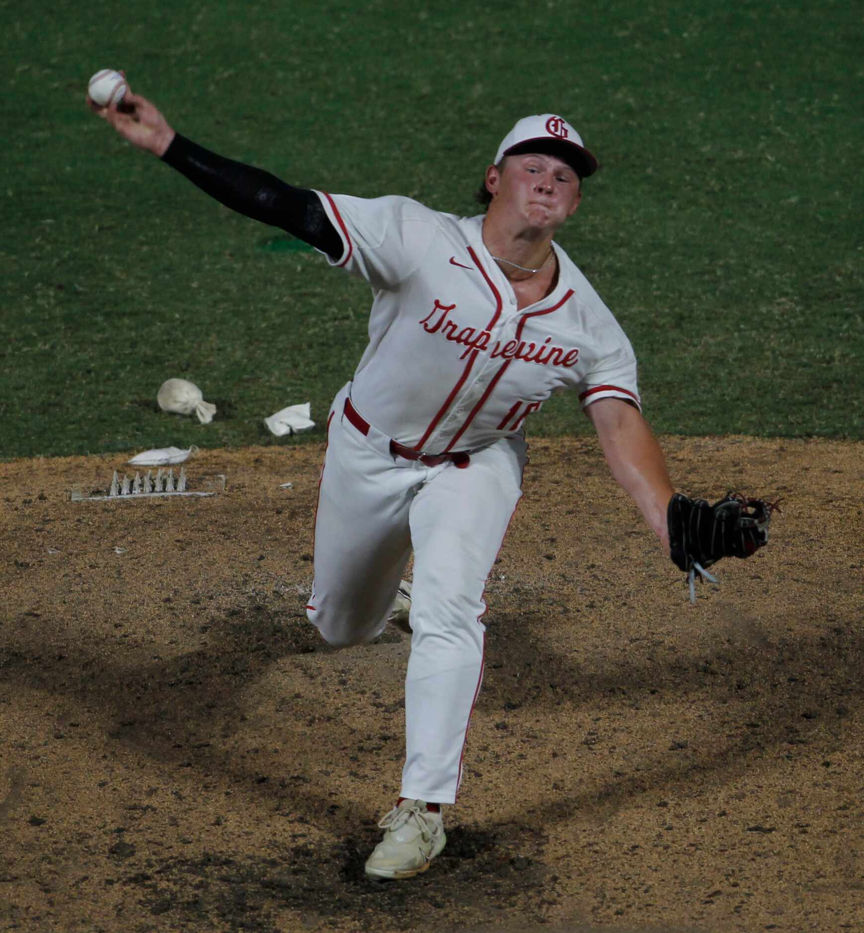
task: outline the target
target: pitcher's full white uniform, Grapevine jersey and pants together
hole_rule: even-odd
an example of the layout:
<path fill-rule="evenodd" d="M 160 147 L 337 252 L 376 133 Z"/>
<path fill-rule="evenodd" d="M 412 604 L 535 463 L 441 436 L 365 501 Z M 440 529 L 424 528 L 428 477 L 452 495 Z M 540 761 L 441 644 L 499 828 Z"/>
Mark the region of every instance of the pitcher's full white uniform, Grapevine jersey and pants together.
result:
<path fill-rule="evenodd" d="M 329 261 L 374 301 L 327 421 L 306 611 L 331 645 L 374 641 L 413 550 L 401 796 L 452 803 L 482 681 L 483 592 L 522 495 L 524 419 L 558 388 L 583 406 L 638 405 L 633 349 L 560 248 L 554 291 L 520 311 L 482 216 L 317 193 L 342 238 Z M 415 460 L 394 439 L 469 456 Z"/>

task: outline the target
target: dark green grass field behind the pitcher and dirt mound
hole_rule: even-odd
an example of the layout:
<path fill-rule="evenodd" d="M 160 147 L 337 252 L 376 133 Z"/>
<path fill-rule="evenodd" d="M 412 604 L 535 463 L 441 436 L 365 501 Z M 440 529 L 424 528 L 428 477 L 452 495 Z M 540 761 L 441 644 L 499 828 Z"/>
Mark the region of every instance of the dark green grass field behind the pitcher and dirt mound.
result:
<path fill-rule="evenodd" d="M 517 118 L 560 112 L 603 170 L 558 239 L 655 429 L 861 439 L 862 23 L 838 0 L 0 3 L 0 457 L 296 443 L 262 419 L 309 400 L 323 427 L 365 343 L 368 287 L 119 140 L 83 106 L 100 67 L 232 158 L 455 213 Z M 174 376 L 213 424 L 157 410 Z M 570 397 L 529 425 L 588 429 Z"/>

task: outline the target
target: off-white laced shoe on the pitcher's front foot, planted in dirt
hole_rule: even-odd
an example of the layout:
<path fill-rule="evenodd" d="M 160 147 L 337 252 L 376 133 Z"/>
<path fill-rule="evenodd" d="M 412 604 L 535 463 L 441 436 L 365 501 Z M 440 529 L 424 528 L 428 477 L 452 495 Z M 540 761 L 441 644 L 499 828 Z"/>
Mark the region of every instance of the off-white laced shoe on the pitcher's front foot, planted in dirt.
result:
<path fill-rule="evenodd" d="M 367 859 L 366 873 L 381 881 L 420 874 L 447 842 L 441 815 L 427 810 L 425 801 L 402 801 L 378 825 L 384 838 Z"/>

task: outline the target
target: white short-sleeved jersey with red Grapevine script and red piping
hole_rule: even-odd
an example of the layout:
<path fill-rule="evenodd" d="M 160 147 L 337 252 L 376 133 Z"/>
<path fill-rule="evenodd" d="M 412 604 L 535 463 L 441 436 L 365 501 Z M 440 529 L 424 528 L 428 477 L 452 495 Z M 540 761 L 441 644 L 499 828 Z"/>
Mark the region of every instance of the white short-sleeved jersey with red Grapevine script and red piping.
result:
<path fill-rule="evenodd" d="M 385 434 L 426 453 L 470 451 L 521 431 L 555 389 L 576 389 L 583 407 L 640 404 L 630 341 L 560 247 L 555 289 L 520 311 L 483 245 L 483 216 L 316 193 L 344 245 L 328 261 L 374 292 L 351 397 Z"/>

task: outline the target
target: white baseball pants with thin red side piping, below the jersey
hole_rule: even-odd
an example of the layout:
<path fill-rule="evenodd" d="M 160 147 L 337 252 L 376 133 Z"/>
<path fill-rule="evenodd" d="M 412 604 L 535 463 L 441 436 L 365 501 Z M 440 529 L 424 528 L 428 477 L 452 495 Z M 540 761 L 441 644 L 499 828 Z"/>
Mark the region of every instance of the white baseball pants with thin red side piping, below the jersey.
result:
<path fill-rule="evenodd" d="M 466 468 L 406 460 L 375 427 L 364 436 L 348 421 L 350 388 L 327 423 L 307 615 L 330 645 L 373 641 L 413 549 L 401 796 L 453 803 L 482 681 L 483 590 L 522 495 L 526 445 L 501 439 Z"/>

